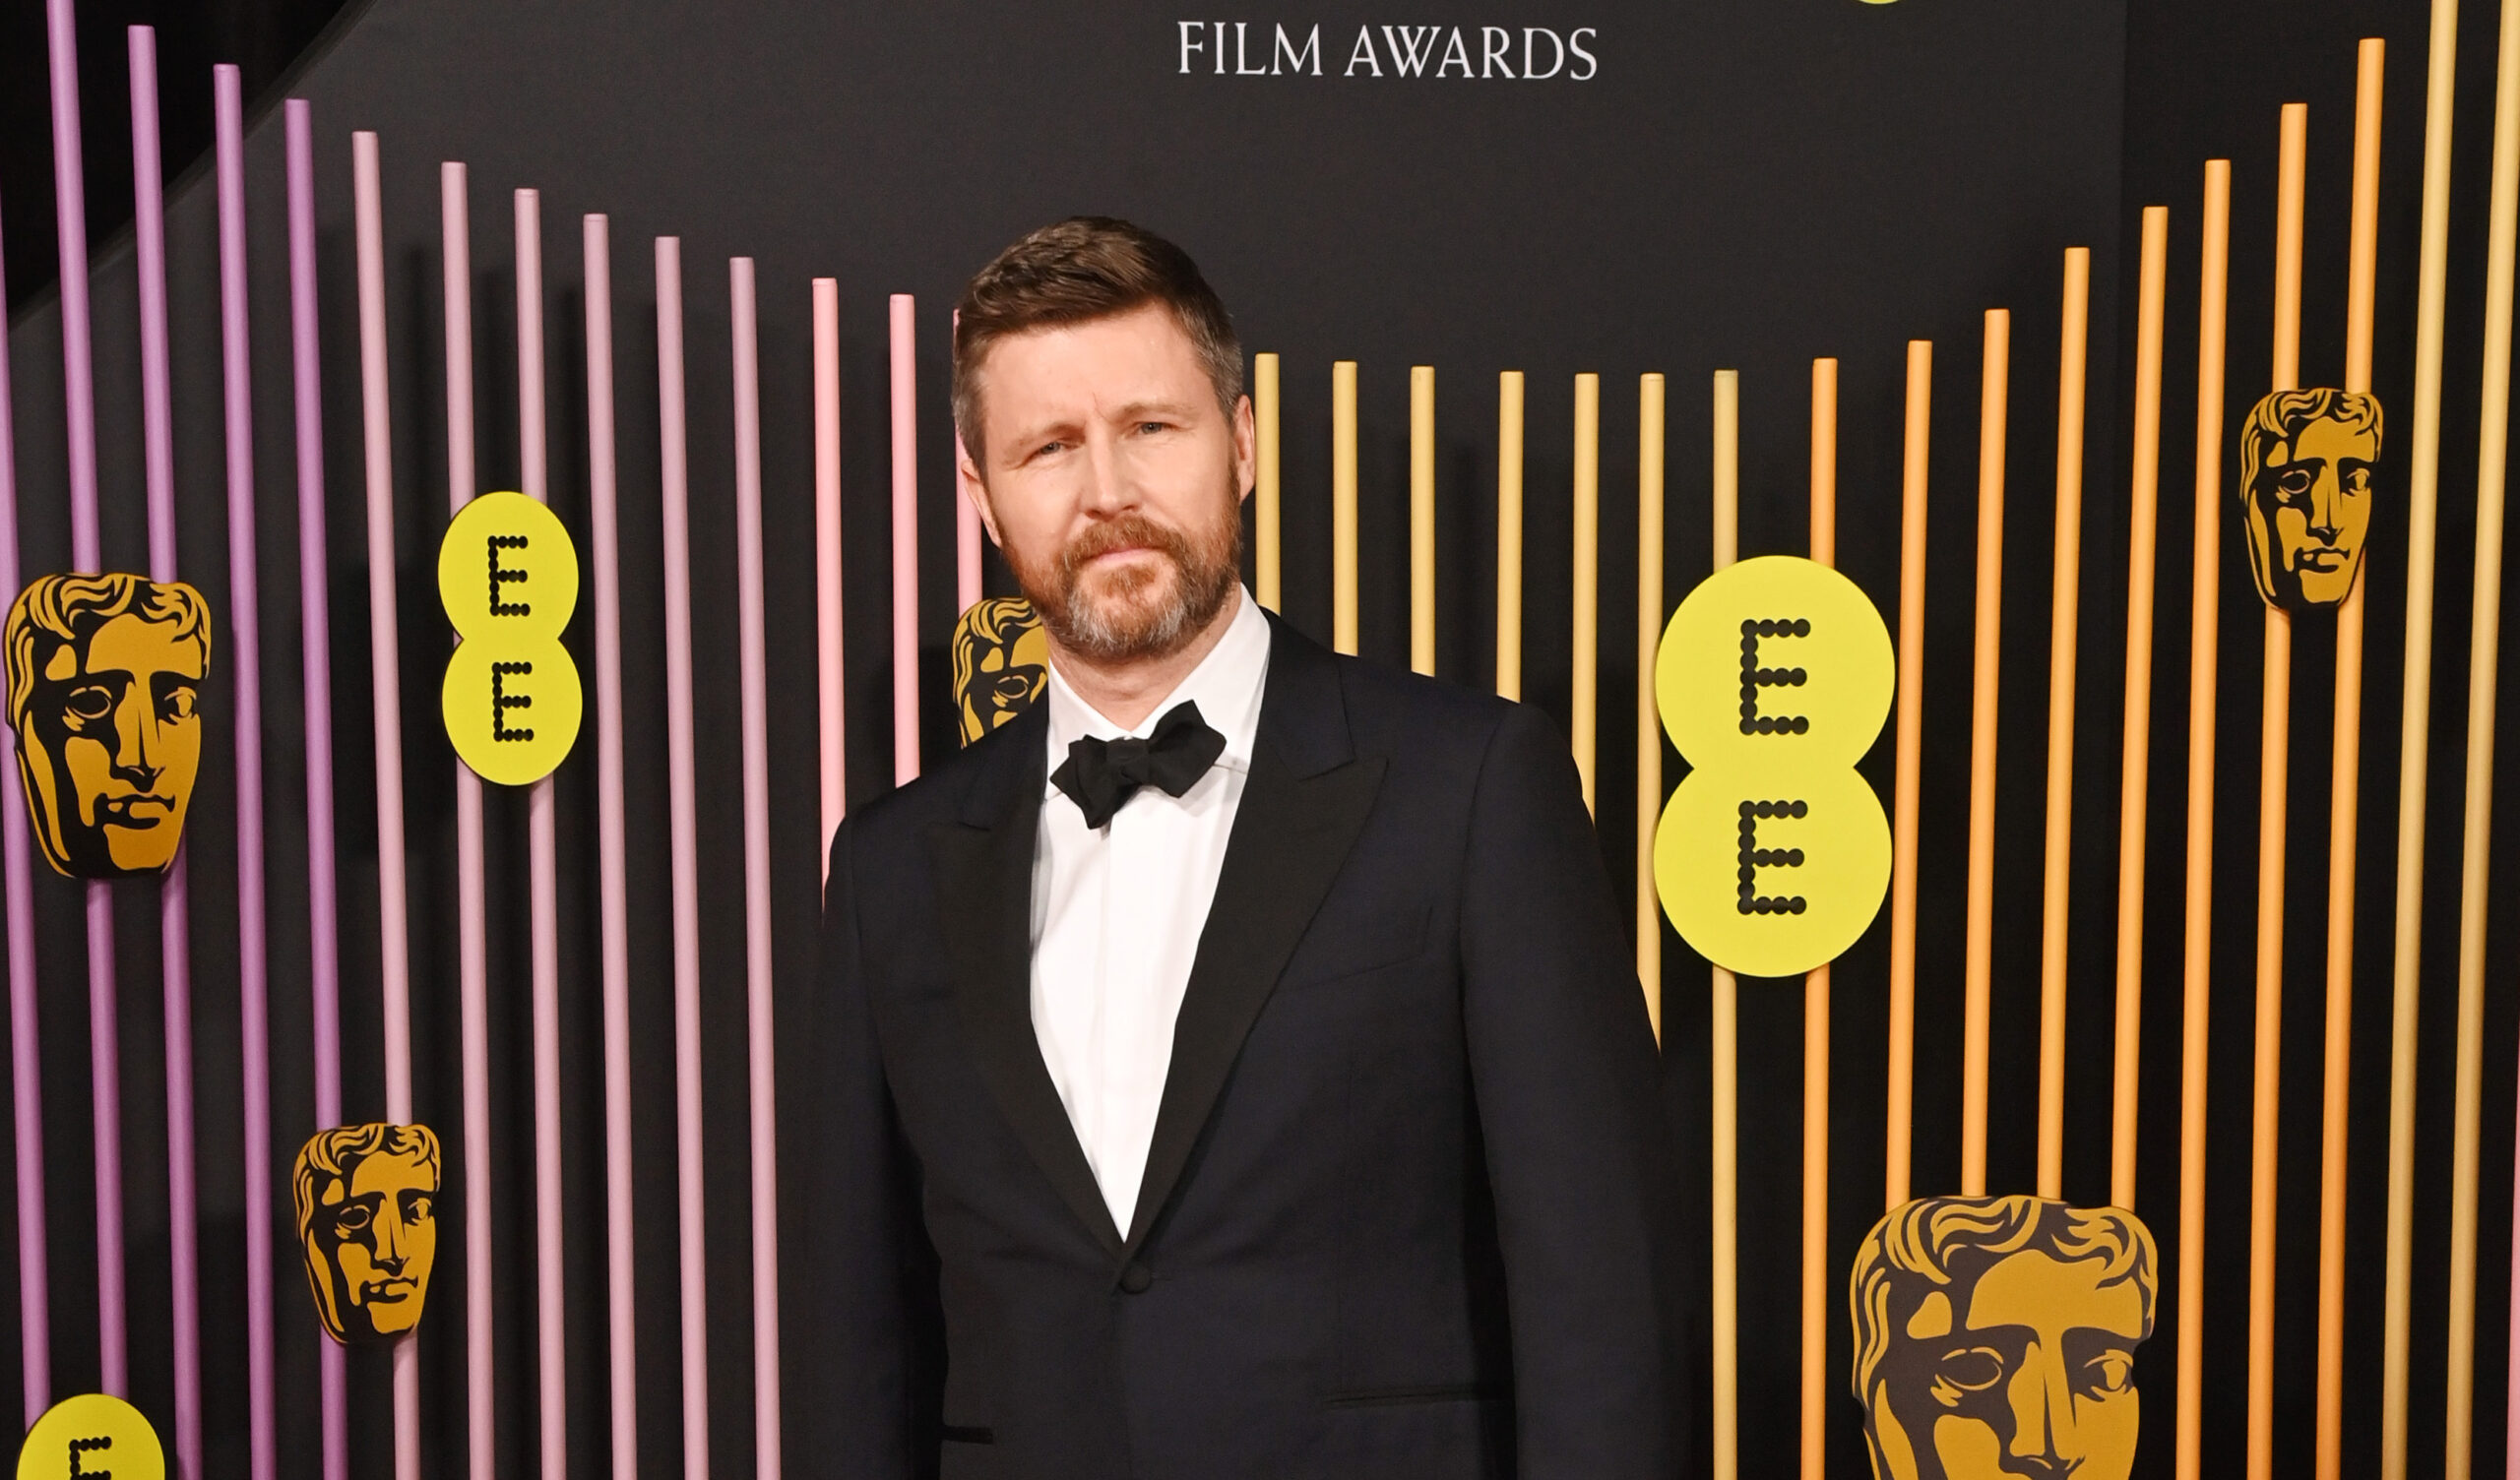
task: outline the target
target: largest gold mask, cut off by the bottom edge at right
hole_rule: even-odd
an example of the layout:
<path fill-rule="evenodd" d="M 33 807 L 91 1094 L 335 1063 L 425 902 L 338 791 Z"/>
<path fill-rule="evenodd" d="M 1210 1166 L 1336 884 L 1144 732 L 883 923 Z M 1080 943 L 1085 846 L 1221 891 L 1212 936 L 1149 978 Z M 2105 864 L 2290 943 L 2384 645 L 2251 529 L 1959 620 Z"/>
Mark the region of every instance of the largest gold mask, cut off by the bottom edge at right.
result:
<path fill-rule="evenodd" d="M 2152 1233 L 2119 1208 L 1893 1208 L 1847 1291 L 1875 1480 L 2127 1480 L 2155 1269 Z"/>

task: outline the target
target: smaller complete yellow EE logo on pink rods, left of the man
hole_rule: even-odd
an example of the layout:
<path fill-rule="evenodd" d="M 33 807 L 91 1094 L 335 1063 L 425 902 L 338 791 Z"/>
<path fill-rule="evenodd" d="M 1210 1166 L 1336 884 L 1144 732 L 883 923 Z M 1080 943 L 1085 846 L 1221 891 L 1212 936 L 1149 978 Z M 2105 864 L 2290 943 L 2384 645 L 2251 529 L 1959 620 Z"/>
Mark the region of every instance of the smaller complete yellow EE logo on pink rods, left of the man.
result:
<path fill-rule="evenodd" d="M 559 644 L 577 609 L 577 549 L 524 493 L 484 493 L 438 544 L 438 599 L 456 629 L 438 705 L 446 737 L 481 780 L 529 785 L 577 745 L 587 695 Z"/>

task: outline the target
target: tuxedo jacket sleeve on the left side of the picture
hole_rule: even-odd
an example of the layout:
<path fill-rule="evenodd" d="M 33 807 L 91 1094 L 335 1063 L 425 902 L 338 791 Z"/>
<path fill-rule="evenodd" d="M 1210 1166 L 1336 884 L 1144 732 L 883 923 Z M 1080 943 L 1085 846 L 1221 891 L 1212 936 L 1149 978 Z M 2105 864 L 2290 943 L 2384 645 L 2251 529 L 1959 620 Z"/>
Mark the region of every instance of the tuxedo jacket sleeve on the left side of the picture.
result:
<path fill-rule="evenodd" d="M 824 891 L 811 1211 L 799 1251 L 816 1271 L 809 1342 L 819 1379 L 799 1397 L 822 1435 L 816 1475 L 912 1480 L 937 1472 L 942 1314 L 920 1168 L 877 1040 L 857 843 L 857 828 L 842 826 Z"/>

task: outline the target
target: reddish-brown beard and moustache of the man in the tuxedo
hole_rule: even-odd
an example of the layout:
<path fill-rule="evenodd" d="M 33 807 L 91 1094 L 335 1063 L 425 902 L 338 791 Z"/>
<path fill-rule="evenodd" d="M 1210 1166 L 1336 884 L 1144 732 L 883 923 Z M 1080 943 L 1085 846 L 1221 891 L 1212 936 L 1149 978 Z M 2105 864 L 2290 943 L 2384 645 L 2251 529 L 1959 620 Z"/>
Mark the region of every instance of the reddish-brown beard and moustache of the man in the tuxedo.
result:
<path fill-rule="evenodd" d="M 1116 549 L 1159 556 L 1157 566 L 1089 571 Z M 1232 501 L 1202 531 L 1121 513 L 1071 539 L 1048 559 L 1005 549 L 1016 584 L 1068 652 L 1094 662 L 1169 657 L 1225 609 L 1242 579 L 1242 519 Z"/>

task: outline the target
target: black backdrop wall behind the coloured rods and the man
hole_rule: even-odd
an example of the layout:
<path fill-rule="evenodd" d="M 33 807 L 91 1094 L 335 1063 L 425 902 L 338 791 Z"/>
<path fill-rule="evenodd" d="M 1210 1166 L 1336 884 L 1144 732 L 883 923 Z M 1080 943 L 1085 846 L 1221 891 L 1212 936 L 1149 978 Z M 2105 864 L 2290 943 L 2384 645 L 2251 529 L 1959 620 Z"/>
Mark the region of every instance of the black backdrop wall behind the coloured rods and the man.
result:
<path fill-rule="evenodd" d="M 23 5 L 20 10 L 33 10 Z M 103 5 L 93 8 L 103 10 Z M 764 456 L 771 614 L 771 763 L 776 858 L 776 961 L 781 994 L 781 1100 L 814 1065 L 809 1042 L 816 916 L 814 654 L 811 654 L 811 420 L 806 282 L 842 282 L 849 775 L 867 798 L 890 765 L 890 529 L 885 435 L 885 294 L 920 300 L 922 463 L 922 677 L 942 685 L 953 619 L 953 506 L 942 418 L 945 310 L 998 244 L 1071 211 L 1137 216 L 1182 239 L 1235 307 L 1250 347 L 1285 355 L 1288 378 L 1288 614 L 1328 629 L 1328 365 L 1363 365 L 1363 649 L 1406 659 L 1406 367 L 1439 370 L 1441 438 L 1441 649 L 1446 677 L 1492 675 L 1494 591 L 1494 373 L 1527 370 L 1530 556 L 1527 695 L 1565 715 L 1570 637 L 1570 380 L 1603 373 L 1603 745 L 1600 823 L 1613 876 L 1630 871 L 1635 400 L 1641 370 L 1671 375 L 1671 591 L 1706 569 L 1706 375 L 1744 378 L 1741 549 L 1797 551 L 1804 541 L 1807 365 L 1842 357 L 1840 556 L 1885 609 L 1898 594 L 1898 448 L 1903 347 L 1938 342 L 1935 536 L 1930 556 L 1925 871 L 1918 1002 L 1920 1191 L 1958 1183 L 1958 1042 L 1966 838 L 1966 697 L 1976 488 L 1978 315 L 2011 307 L 2013 418 L 2006 551 L 2006 710 L 1998 936 L 1996 1102 L 2029 1105 L 2036 1080 L 2036 851 L 2041 813 L 2049 501 L 2054 493 L 2054 365 L 2059 257 L 2094 249 L 2089 513 L 2084 531 L 2076 790 L 2074 1017 L 2066 1193 L 2107 1196 L 2107 1042 L 2117 805 L 2117 672 L 2124 632 L 2124 398 L 2132 342 L 2132 252 L 2142 204 L 2170 204 L 2172 297 L 2162 478 L 2162 597 L 2155 672 L 2152 929 L 2147 951 L 2145 1160 L 2139 1208 L 2175 1243 L 2177 1193 L 2177 929 L 2185 783 L 2175 758 L 2185 727 L 2187 456 L 2192 415 L 2195 201 L 2208 156 L 2235 161 L 2233 415 L 2265 380 L 2268 262 L 2276 108 L 2306 98 L 2311 113 L 2311 259 L 2303 365 L 2336 373 L 2344 322 L 2344 176 L 2354 38 L 2389 38 L 2389 156 L 2384 174 L 2379 395 L 2407 403 L 2414 305 L 2414 211 L 2422 138 L 2427 8 L 2321 0 L 2167 0 L 2021 8 L 2001 0 L 1789 0 L 1779 5 L 1570 8 L 1535 0 L 1517 13 L 1411 15 L 1462 25 L 1593 28 L 1598 70 L 1583 81 L 1343 76 L 1361 25 L 1396 23 L 1353 0 L 1305 13 L 1179 15 L 1147 5 L 1005 5 L 953 0 L 890 13 L 761 0 L 688 10 L 625 3 L 600 15 L 572 5 L 378 0 L 335 28 L 292 83 L 315 108 L 318 209 L 325 310 L 325 418 L 333 486 L 330 612 L 335 622 L 335 740 L 343 793 L 345 1090 L 350 1115 L 383 1113 L 375 1019 L 375 836 L 365 808 L 373 758 L 365 672 L 365 564 L 355 438 L 358 345 L 350 277 L 348 133 L 375 128 L 386 159 L 393 435 L 403 591 L 403 705 L 413 838 L 418 1105 L 459 1143 L 454 1007 L 454 805 L 451 755 L 433 732 L 436 675 L 449 639 L 428 597 L 444 529 L 444 362 L 438 335 L 436 164 L 471 166 L 479 458 L 484 488 L 517 481 L 514 294 L 507 191 L 544 191 L 552 335 L 552 501 L 585 539 L 585 383 L 577 367 L 575 216 L 607 211 L 615 234 L 615 335 L 620 342 L 625 710 L 630 785 L 635 1138 L 640 1148 L 640 1442 L 648 1465 L 680 1452 L 673 1274 L 673 1052 L 670 926 L 665 909 L 663 607 L 655 443 L 655 357 L 648 242 L 680 234 L 690 302 L 693 561 L 701 602 L 703 755 L 733 755 L 736 619 L 733 493 L 726 370 L 726 257 L 751 254 L 764 284 Z M 2449 405 L 2442 488 L 2442 594 L 2434 705 L 2432 914 L 2424 1014 L 2424 1148 L 2417 1259 L 2419 1467 L 2439 1445 L 2442 1248 L 2447 1246 L 2449 1002 L 2457 921 L 2457 775 L 2465 685 L 2467 551 L 2475 365 L 2482 297 L 2485 141 L 2490 123 L 2490 8 L 2472 8 L 2460 126 L 2460 194 L 2452 247 Z M 141 18 L 141 15 L 134 15 Z M 93 20 L 93 15 L 91 15 Z M 1245 20 L 1255 38 L 1285 25 L 1298 40 L 1320 25 L 1323 76 L 1215 76 L 1212 53 L 1182 70 L 1182 20 Z M 111 33 L 108 33 L 111 35 Z M 1212 33 L 1210 33 L 1212 35 Z M 1378 35 L 1378 30 L 1376 30 Z M 93 43 L 91 43 L 93 45 Z M 1257 45 L 1255 45 L 1257 55 Z M 98 58 L 86 68 L 93 78 Z M 111 58 L 108 58 L 111 60 Z M 15 60 L 10 63 L 18 65 Z M 199 78 L 176 81 L 169 108 Z M 1227 63 L 1227 70 L 1232 65 Z M 1356 68 L 1358 73 L 1363 68 Z M 1580 70 L 1580 68 L 1578 68 Z M 111 73 L 111 65 L 106 70 Z M 13 88 L 13 96 L 23 96 Z M 197 93 L 192 93 L 197 96 Z M 257 466 L 265 486 L 260 551 L 267 785 L 272 795 L 272 997 L 275 1145 L 285 1158 L 310 1125 L 305 1002 L 302 755 L 297 745 L 297 566 L 290 508 L 290 403 L 285 237 L 277 96 L 249 143 L 255 254 Z M 13 116 L 23 111 L 13 103 Z M 91 123 L 121 116 L 118 96 L 91 96 Z M 15 128 L 35 126 L 15 123 Z M 20 136 L 23 138 L 23 136 Z M 23 159 L 10 141 L 10 169 Z M 88 156 L 126 138 L 93 126 Z M 40 161 L 40 151 L 38 151 Z M 20 252 L 40 181 L 0 176 Z M 98 184 L 98 189 L 106 189 Z M 103 209 L 103 204 L 98 204 Z M 40 237 L 38 237 L 40 242 Z M 217 420 L 217 252 L 204 179 L 169 204 L 176 352 L 176 456 L 184 571 L 214 604 L 227 599 L 222 435 Z M 15 282 L 15 277 L 13 277 Z M 108 564 L 141 559 L 139 357 L 129 249 L 96 264 L 98 413 Z M 10 335 L 18 383 L 18 463 L 28 571 L 66 564 L 60 347 L 50 300 L 38 294 Z M 2384 508 L 2371 559 L 2371 659 L 2364 743 L 2364 861 L 2359 919 L 2359 1070 L 2354 1092 L 2354 1248 L 2374 1274 L 2351 1281 L 2349 1387 L 2379 1382 L 2379 1248 L 2386 1120 L 2389 886 L 2394 868 L 2397 632 L 2404 604 L 2404 513 Z M 993 579 L 1003 574 L 993 566 Z M 585 622 L 580 622 L 580 634 Z M 2210 1379 L 2208 1465 L 2238 1467 L 2245 1316 L 2250 901 L 2245 838 L 2255 823 L 2255 602 L 2225 574 L 2223 612 L 2223 889 L 2218 891 L 2215 1138 L 2208 1241 Z M 2296 778 L 2326 778 L 2326 649 L 2306 639 L 2296 725 Z M 224 707 L 212 680 L 212 732 Z M 2510 707 L 2507 707 L 2510 710 Z M 930 748 L 950 745 L 948 715 L 927 705 Z M 2505 725 L 2505 735 L 2510 725 Z M 2507 750 L 2507 745 L 2505 745 Z M 1867 770 L 1887 795 L 1890 745 Z M 242 1379 L 242 1120 L 234 1002 L 232 790 L 222 745 L 209 748 L 192 833 L 197 1067 L 202 1158 L 202 1259 L 209 1379 L 209 1472 L 244 1465 Z M 2298 788 L 2286 1060 L 2283 1314 L 2281 1347 L 2301 1354 L 2278 1374 L 2281 1467 L 2308 1465 L 2311 1259 L 2318 1165 L 2318 886 L 2323 783 Z M 711 1359 L 716 1460 L 751 1465 L 743 919 L 736 778 L 703 775 L 703 959 L 708 964 L 711 1120 Z M 2505 808 L 2507 838 L 2512 808 Z M 602 1082 L 595 977 L 592 763 L 559 775 L 564 831 L 564 1027 L 582 1045 L 564 1065 L 570 1284 L 570 1450 L 595 1472 L 605 1450 L 602 1309 Z M 494 793 L 494 1102 L 501 1467 L 534 1452 L 532 1402 L 532 1155 L 529 1014 L 522 798 Z M 2502 848 L 2507 856 L 2507 846 Z M 121 911 L 121 1055 L 126 1087 L 126 1198 L 131 1218 L 134 1382 L 156 1417 L 171 1410 L 166 1352 L 166 1188 L 156 916 L 134 889 Z M 2507 889 L 2505 889 L 2507 896 Z M 76 894 L 45 878 L 40 931 L 45 1045 L 45 1150 L 53 1175 L 55 1389 L 93 1384 L 93 1294 L 86 994 Z M 13 941 L 13 949 L 18 944 Z M 1842 1264 L 1877 1213 L 1885 946 L 1880 926 L 1840 967 L 1832 1097 L 1832 1251 Z M 2490 977 L 2507 982 L 2515 946 L 2495 941 Z M 1704 1102 L 1706 999 L 1701 967 L 1671 941 L 1666 969 L 1668 1055 Z M 1774 1472 L 1794 1452 L 1797 1331 L 1789 1316 L 1799 1148 L 1799 994 L 1746 984 L 1744 1062 L 1744 1465 Z M 2480 1291 L 2480 1392 L 2497 1392 L 2507 1294 L 2512 994 L 2497 989 L 2487 1022 L 2485 1279 Z M 809 1128 L 789 1118 L 794 1145 Z M 1698 1138 L 1701 1145 L 1704 1138 Z M 2031 1118 L 1996 1115 L 1991 1180 L 2029 1186 Z M 1704 1186 L 1706 1168 L 1688 1175 Z M 449 1191 L 459 1186 L 449 1175 Z M 15 1218 L 0 1208 L 0 1223 Z M 449 1203 L 449 1228 L 456 1228 Z M 13 1228 L 0 1228 L 13 1238 Z M 811 1231 L 794 1216 L 781 1243 L 789 1279 L 811 1264 Z M 456 1241 L 438 1264 L 423 1342 L 428 1472 L 461 1465 L 461 1311 Z M 282 1271 L 285 1472 L 315 1465 L 318 1331 Z M 2167 1314 L 2167 1301 L 2165 1301 Z M 0 1304 L 0 1319 L 15 1319 Z M 1845 1329 L 1832 1314 L 1830 1372 L 1845 1369 Z M 2170 1465 L 2170 1352 L 2175 1326 L 2147 1349 L 2152 1435 L 2142 1470 Z M 0 1377 L 15 1344 L 0 1344 Z M 806 1334 L 789 1334 L 789 1455 L 811 1472 L 814 1392 Z M 386 1367 L 353 1364 L 360 1412 L 355 1465 L 386 1462 Z M 2500 1447 L 2500 1410 L 2485 1404 L 2477 1450 Z M 2230 1422 L 2225 1422 L 2225 1417 Z M 1852 1402 L 1832 1407 L 1832 1472 L 1860 1475 Z M 1701 1427 L 1704 1440 L 1704 1427 Z M 2349 1467 L 2376 1455 L 2376 1412 L 2354 1402 Z"/>

